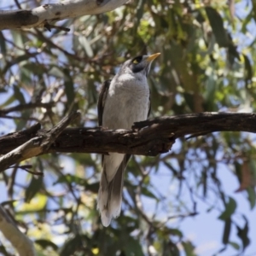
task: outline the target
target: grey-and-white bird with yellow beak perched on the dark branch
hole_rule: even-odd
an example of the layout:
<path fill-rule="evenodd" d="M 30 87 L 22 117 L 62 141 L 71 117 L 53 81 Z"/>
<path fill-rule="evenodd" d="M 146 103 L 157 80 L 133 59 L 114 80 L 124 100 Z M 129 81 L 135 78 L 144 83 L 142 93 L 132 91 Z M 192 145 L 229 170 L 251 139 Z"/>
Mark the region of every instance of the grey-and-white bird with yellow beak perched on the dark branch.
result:
<path fill-rule="evenodd" d="M 108 129 L 131 129 L 134 122 L 148 118 L 147 76 L 152 61 L 159 55 L 142 55 L 125 61 L 113 79 L 102 84 L 98 101 L 99 125 Z M 102 155 L 97 207 L 105 227 L 120 214 L 124 172 L 130 157 L 131 154 Z"/>

